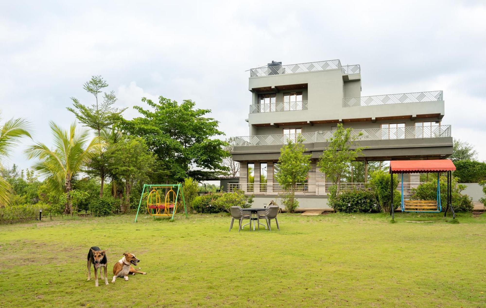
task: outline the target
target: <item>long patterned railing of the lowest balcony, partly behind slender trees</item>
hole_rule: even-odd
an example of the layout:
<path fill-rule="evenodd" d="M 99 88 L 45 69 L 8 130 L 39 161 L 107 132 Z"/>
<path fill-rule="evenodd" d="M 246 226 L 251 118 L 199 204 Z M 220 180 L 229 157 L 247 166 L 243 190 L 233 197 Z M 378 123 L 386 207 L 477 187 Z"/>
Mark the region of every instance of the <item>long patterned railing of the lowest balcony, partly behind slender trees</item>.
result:
<path fill-rule="evenodd" d="M 332 137 L 333 131 L 318 131 L 315 133 L 300 134 L 304 143 L 327 142 Z M 354 129 L 352 136 L 359 136 L 359 140 L 389 140 L 389 139 L 414 139 L 414 138 L 438 138 L 451 137 L 451 125 L 412 126 L 398 128 L 368 128 Z M 260 135 L 235 137 L 235 146 L 251 145 L 282 145 L 287 140 L 296 140 L 297 134 L 286 135 Z"/>

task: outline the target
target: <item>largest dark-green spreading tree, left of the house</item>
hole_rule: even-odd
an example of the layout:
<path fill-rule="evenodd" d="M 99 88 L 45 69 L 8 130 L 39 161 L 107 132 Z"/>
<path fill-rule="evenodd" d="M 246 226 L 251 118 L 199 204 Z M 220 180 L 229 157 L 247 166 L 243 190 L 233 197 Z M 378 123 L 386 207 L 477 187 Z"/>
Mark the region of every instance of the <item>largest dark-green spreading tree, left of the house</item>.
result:
<path fill-rule="evenodd" d="M 195 103 L 159 97 L 158 102 L 142 98 L 151 109 L 135 106 L 142 117 L 123 120 L 121 128 L 129 135 L 145 139 L 149 149 L 157 155 L 159 183 L 179 182 L 190 176 L 200 180 L 224 174 L 228 168 L 223 158 L 229 156 L 225 141 L 215 138 L 224 135 L 218 121 L 204 117 L 209 109 L 195 109 Z"/>

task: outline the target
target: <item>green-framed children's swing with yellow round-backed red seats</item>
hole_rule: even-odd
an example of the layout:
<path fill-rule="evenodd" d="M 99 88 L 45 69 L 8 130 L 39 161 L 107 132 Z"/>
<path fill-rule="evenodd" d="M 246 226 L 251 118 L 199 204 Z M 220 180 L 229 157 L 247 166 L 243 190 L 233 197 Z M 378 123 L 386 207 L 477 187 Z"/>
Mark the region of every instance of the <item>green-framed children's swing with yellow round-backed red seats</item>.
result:
<path fill-rule="evenodd" d="M 159 190 L 168 189 L 163 199 L 160 197 Z M 174 190 L 177 188 L 176 190 Z M 139 216 L 140 206 L 142 205 L 143 194 L 150 190 L 147 195 L 147 211 L 150 216 L 155 217 L 171 217 L 174 220 L 174 214 L 177 211 L 177 200 L 179 196 L 182 196 L 182 203 L 184 204 L 184 211 L 187 216 L 186 200 L 184 199 L 184 191 L 182 190 L 182 184 L 160 184 L 160 185 L 148 185 L 144 184 L 142 194 L 140 196 L 139 208 L 137 209 L 137 215 L 135 216 L 135 222 Z M 162 202 L 163 200 L 163 202 Z"/>

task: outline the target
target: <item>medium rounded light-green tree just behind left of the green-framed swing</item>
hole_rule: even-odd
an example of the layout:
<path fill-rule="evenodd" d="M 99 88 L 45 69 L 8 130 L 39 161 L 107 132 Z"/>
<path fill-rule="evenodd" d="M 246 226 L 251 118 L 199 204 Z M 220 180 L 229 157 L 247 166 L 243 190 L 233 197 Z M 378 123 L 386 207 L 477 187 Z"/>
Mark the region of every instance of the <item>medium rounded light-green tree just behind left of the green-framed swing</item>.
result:
<path fill-rule="evenodd" d="M 122 137 L 110 145 L 105 152 L 108 172 L 112 178 L 121 180 L 125 189 L 122 211 L 130 210 L 132 187 L 148 179 L 154 166 L 154 154 L 149 152 L 145 141 L 139 137 Z"/>

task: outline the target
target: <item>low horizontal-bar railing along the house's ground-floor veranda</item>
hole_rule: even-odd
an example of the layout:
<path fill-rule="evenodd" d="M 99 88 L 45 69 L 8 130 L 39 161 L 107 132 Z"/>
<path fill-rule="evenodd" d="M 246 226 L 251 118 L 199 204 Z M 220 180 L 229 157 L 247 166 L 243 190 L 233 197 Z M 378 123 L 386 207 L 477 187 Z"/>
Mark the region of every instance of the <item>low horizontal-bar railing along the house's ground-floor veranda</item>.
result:
<path fill-rule="evenodd" d="M 403 196 L 408 199 L 412 194 L 412 188 L 416 188 L 419 184 L 420 183 L 403 182 Z M 332 185 L 332 183 L 299 183 L 295 187 L 295 193 L 297 195 L 327 195 L 330 192 Z M 342 182 L 339 185 L 339 189 L 341 191 L 352 189 L 363 190 L 368 189 L 366 188 L 366 185 L 367 183 Z M 398 189 L 401 190 L 400 184 Z M 245 193 L 259 195 L 275 195 L 284 191 L 278 183 L 230 183 L 228 184 L 227 190 L 229 192 L 243 190 Z"/>

